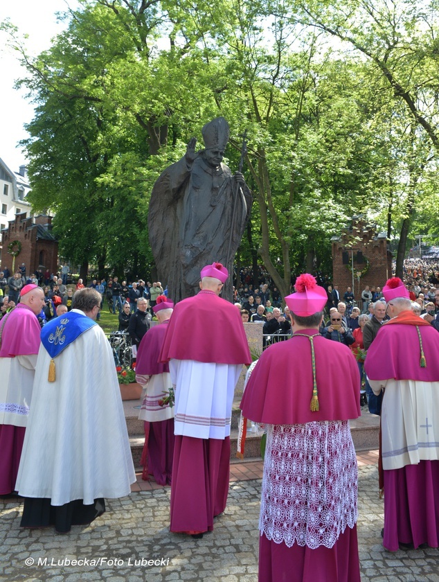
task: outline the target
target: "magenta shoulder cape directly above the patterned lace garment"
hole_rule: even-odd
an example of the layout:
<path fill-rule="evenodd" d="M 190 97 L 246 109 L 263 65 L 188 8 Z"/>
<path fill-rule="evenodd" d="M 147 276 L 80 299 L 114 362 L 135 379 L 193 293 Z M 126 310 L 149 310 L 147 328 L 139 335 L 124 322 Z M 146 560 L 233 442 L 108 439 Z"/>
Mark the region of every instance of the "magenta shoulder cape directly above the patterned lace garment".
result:
<path fill-rule="evenodd" d="M 301 333 L 313 335 L 316 330 Z M 314 349 L 318 412 L 310 410 L 313 385 L 310 340 L 293 336 L 262 353 L 242 397 L 242 414 L 252 421 L 273 425 L 358 418 L 359 373 L 350 349 L 321 335 L 314 337 Z"/>

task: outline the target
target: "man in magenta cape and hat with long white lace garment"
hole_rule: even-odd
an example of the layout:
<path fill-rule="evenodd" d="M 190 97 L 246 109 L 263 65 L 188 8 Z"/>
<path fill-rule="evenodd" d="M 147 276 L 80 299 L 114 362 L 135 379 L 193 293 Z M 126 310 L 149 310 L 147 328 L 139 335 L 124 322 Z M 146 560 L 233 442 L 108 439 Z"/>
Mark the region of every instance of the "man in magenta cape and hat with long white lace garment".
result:
<path fill-rule="evenodd" d="M 357 362 L 346 346 L 319 335 L 325 289 L 308 274 L 295 286 L 285 297 L 292 339 L 262 353 L 241 403 L 246 418 L 267 426 L 259 581 L 359 582 L 357 459 L 348 424 L 360 415 Z"/>

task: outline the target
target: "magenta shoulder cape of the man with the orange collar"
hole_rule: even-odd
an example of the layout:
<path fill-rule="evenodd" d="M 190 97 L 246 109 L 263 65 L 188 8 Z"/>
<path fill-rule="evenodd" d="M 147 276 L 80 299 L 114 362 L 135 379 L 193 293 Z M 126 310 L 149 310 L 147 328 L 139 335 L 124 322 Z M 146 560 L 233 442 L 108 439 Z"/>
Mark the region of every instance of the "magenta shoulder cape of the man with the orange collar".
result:
<path fill-rule="evenodd" d="M 391 320 L 392 321 L 392 320 Z M 384 324 L 368 349 L 364 369 L 370 380 L 439 380 L 439 333 L 420 326 L 426 368 L 420 367 L 418 331 L 413 325 Z"/>

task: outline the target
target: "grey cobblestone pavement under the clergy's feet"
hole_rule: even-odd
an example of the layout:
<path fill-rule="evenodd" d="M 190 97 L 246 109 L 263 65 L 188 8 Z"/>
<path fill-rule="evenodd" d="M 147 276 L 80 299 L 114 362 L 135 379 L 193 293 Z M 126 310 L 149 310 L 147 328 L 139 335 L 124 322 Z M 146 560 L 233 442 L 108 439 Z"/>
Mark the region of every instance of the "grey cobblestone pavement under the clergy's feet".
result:
<path fill-rule="evenodd" d="M 361 581 L 439 582 L 438 549 L 382 547 L 377 457 L 357 453 Z M 170 533 L 170 488 L 140 473 L 129 497 L 106 500 L 104 515 L 66 534 L 20 529 L 22 502 L 0 500 L 0 581 L 255 582 L 261 476 L 260 459 L 231 464 L 226 511 L 201 540 Z"/>

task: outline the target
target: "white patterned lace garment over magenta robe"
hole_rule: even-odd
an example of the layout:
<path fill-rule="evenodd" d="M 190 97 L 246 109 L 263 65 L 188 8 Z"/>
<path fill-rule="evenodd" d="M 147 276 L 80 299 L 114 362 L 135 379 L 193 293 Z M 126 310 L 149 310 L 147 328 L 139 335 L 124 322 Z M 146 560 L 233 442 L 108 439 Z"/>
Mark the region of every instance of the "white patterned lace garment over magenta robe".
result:
<path fill-rule="evenodd" d="M 268 425 L 259 529 L 292 547 L 333 547 L 357 522 L 357 458 L 348 421 Z"/>

